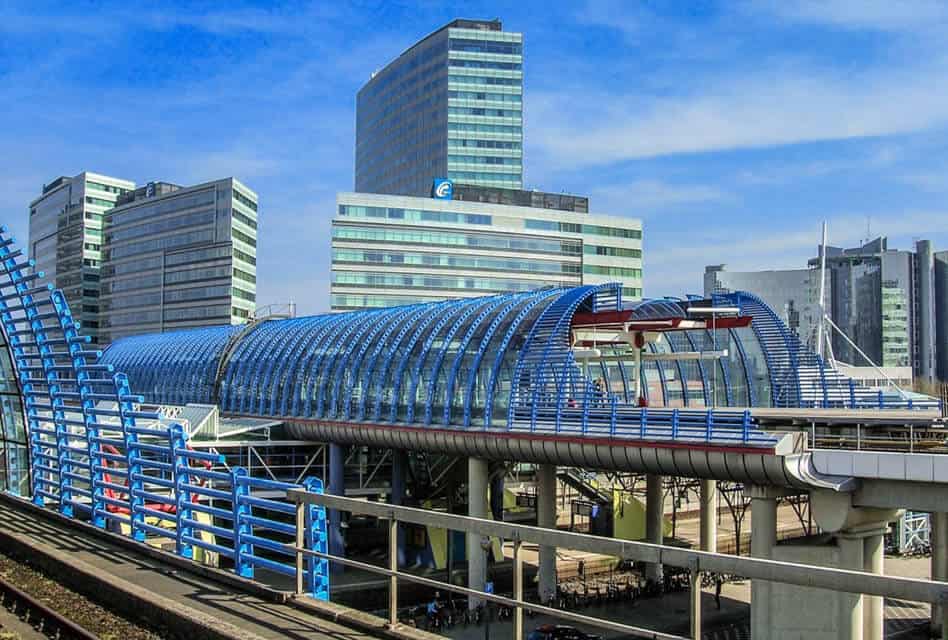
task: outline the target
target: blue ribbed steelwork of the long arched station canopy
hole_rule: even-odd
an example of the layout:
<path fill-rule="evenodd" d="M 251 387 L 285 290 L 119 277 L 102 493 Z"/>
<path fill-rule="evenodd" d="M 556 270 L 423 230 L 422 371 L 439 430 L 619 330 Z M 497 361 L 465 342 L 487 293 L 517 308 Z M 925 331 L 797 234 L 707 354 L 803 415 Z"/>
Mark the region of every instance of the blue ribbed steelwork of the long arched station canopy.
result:
<path fill-rule="evenodd" d="M 615 309 L 618 300 L 618 285 L 587 285 L 271 320 L 250 330 L 129 338 L 112 345 L 103 360 L 128 371 L 132 386 L 143 380 L 149 400 L 206 402 L 208 390 L 218 389 L 211 400 L 237 414 L 615 437 L 639 437 L 645 419 L 649 437 L 697 438 L 698 425 L 704 425 L 701 439 L 712 444 L 735 437 L 763 441 L 752 419 L 748 426 L 742 412 L 727 411 L 737 398 L 739 375 L 752 405 L 758 400 L 765 406 L 879 402 L 874 394 L 851 392 L 848 379 L 827 370 L 757 298 L 729 294 L 714 303 L 739 306 L 754 320 L 751 327 L 727 330 L 737 351 L 734 366 L 739 357 L 743 374 L 722 362 L 710 365 L 720 366 L 721 375 L 717 370 L 711 375 L 705 362 L 683 365 L 675 359 L 675 353 L 710 349 L 709 331 L 666 334 L 668 346 L 661 346 L 668 361 L 650 364 L 649 372 L 640 369 L 642 393 L 648 397 L 654 370 L 663 397 L 651 398 L 652 404 L 677 402 L 666 376 L 675 371 L 674 384 L 681 386 L 681 404 L 688 410 L 653 407 L 643 418 L 637 398 L 631 397 L 631 356 L 615 362 L 618 377 L 599 364 L 606 382 L 599 385 L 592 380 L 596 375 L 587 376 L 578 366 L 571 346 L 577 312 Z M 654 320 L 685 318 L 687 305 L 662 299 L 630 308 L 632 319 Z M 653 343 L 647 349 L 659 351 Z M 221 372 L 220 379 L 199 379 L 210 371 Z M 725 385 L 723 398 L 712 396 L 711 380 L 718 377 Z M 837 380 L 839 398 L 831 379 Z M 728 406 L 692 412 L 702 399 L 705 407 Z M 892 404 L 885 397 L 882 402 Z"/>

